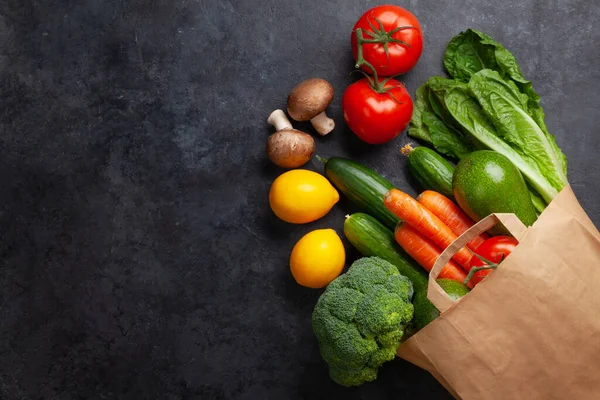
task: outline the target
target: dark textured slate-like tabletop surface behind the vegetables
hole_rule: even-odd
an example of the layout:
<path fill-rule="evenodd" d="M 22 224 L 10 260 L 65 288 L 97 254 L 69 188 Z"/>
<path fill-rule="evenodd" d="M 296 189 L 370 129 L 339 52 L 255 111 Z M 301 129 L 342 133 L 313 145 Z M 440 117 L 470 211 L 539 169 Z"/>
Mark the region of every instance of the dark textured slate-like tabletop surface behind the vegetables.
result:
<path fill-rule="evenodd" d="M 358 389 L 329 380 L 310 326 L 320 291 L 287 260 L 309 230 L 341 233 L 350 208 L 291 226 L 267 202 L 282 171 L 266 117 L 312 76 L 336 89 L 318 152 L 414 193 L 405 137 L 362 145 L 341 118 L 350 30 L 377 4 L 0 1 L 0 398 L 449 398 L 401 360 Z M 411 94 L 443 73 L 453 35 L 490 33 L 534 81 L 600 223 L 598 2 L 403 5 L 425 35 Z"/>

